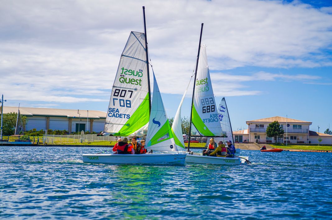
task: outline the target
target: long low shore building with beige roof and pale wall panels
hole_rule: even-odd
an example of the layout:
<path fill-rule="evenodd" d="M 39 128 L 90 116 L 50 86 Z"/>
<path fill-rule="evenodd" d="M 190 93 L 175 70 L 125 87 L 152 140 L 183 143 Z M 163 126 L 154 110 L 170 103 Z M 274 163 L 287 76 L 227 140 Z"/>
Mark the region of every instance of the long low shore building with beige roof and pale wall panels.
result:
<path fill-rule="evenodd" d="M 3 107 L 3 114 L 18 112 L 18 107 Z M 34 130 L 67 130 L 71 132 L 104 130 L 106 112 L 95 110 L 55 109 L 55 108 L 27 108 L 20 107 L 21 115 L 28 118 L 24 131 Z"/>

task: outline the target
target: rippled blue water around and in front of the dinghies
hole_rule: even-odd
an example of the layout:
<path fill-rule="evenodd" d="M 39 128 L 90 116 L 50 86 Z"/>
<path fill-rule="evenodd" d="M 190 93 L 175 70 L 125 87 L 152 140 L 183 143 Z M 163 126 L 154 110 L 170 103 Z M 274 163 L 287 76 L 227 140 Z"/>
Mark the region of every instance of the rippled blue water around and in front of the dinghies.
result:
<path fill-rule="evenodd" d="M 0 147 L 0 218 L 321 219 L 332 153 L 241 150 L 251 165 L 84 164 L 105 148 Z"/>

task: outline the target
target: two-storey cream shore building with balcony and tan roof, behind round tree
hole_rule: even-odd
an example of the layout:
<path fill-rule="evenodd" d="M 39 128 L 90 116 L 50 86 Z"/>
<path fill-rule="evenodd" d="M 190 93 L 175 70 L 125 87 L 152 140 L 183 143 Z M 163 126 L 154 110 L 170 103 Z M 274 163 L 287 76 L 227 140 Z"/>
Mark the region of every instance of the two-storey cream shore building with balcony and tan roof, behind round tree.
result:
<path fill-rule="evenodd" d="M 312 124 L 311 122 L 280 116 L 246 121 L 248 129 L 233 131 L 234 141 L 238 143 L 275 143 L 274 138 L 266 136 L 266 128 L 274 121 L 278 121 L 285 132 L 282 138 L 278 138 L 279 143 L 286 143 L 286 141 L 288 141 L 288 143 L 318 144 L 320 139 L 320 144 L 332 144 L 332 135 L 309 130 L 309 126 Z"/>

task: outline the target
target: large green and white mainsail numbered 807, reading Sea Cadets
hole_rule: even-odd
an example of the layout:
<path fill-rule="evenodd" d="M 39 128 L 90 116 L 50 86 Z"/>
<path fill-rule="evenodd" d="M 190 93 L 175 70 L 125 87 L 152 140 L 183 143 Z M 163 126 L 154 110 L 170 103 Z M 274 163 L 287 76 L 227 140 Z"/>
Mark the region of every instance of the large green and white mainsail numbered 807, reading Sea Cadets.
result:
<path fill-rule="evenodd" d="M 114 80 L 104 135 L 141 136 L 149 122 L 144 33 L 131 32 Z"/>

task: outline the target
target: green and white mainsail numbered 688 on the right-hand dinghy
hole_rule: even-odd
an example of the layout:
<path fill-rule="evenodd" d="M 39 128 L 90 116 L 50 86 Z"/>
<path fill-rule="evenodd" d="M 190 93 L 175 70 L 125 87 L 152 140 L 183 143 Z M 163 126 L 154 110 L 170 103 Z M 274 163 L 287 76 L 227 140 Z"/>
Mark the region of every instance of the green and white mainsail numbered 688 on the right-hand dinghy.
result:
<path fill-rule="evenodd" d="M 205 45 L 201 46 L 195 83 L 192 109 L 192 123 L 195 129 L 192 129 L 192 135 L 221 136 L 222 130 L 215 105 Z"/>

